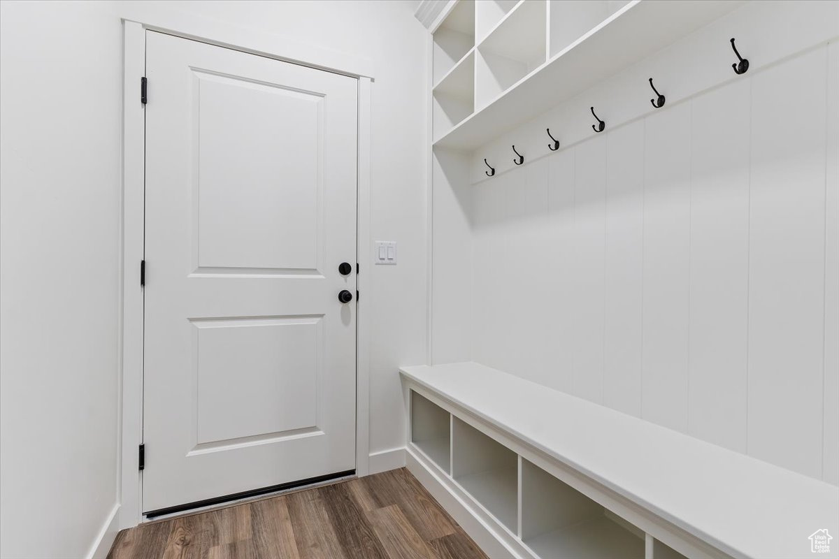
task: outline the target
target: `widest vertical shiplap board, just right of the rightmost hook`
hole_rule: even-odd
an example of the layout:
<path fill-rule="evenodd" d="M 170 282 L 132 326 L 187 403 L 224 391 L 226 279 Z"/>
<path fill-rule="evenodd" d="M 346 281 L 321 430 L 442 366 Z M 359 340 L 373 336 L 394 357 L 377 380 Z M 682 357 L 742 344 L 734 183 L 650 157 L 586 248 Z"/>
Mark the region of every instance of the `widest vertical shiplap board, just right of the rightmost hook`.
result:
<path fill-rule="evenodd" d="M 822 468 L 825 76 L 820 48 L 752 78 L 748 453 L 814 477 Z"/>

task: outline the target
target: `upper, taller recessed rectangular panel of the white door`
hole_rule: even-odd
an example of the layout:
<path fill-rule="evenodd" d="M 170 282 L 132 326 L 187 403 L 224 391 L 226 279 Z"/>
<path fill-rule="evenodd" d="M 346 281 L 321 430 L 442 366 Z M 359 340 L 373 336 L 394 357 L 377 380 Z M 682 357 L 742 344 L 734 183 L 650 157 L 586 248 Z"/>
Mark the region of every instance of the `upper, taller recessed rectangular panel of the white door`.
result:
<path fill-rule="evenodd" d="M 205 72 L 194 87 L 198 266 L 315 270 L 325 97 Z"/>

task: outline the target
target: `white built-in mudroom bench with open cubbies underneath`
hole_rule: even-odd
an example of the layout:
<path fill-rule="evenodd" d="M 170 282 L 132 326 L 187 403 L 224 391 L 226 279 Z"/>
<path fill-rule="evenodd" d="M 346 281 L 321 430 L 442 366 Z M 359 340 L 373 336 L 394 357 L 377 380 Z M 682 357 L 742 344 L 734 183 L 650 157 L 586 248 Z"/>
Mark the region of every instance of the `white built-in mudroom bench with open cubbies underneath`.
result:
<path fill-rule="evenodd" d="M 400 373 L 408 468 L 493 559 L 805 557 L 839 534 L 830 484 L 477 363 Z"/>

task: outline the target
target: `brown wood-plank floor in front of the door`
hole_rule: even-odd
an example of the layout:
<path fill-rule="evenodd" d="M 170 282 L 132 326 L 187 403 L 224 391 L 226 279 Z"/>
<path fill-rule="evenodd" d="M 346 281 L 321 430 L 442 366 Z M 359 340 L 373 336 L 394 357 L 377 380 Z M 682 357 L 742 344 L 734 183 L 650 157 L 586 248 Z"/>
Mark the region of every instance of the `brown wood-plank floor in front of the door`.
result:
<path fill-rule="evenodd" d="M 121 531 L 109 559 L 486 559 L 407 469 Z"/>

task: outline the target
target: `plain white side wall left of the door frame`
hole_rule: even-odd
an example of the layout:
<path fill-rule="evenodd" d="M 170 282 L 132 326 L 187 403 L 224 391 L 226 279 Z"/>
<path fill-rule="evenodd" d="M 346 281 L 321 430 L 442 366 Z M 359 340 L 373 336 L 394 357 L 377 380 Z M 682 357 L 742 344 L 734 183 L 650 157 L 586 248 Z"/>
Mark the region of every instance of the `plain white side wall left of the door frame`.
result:
<path fill-rule="evenodd" d="M 117 502 L 121 28 L 0 3 L 3 557 L 86 556 Z"/>

